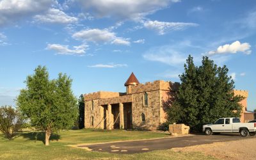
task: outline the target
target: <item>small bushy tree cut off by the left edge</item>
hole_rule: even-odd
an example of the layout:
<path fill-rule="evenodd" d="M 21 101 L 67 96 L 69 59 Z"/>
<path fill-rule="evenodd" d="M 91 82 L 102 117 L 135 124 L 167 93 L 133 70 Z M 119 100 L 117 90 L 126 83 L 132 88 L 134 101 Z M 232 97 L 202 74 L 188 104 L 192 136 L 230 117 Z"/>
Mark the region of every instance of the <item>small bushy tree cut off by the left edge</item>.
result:
<path fill-rule="evenodd" d="M 8 140 L 12 140 L 15 134 L 22 128 L 24 119 L 19 111 L 11 106 L 1 106 L 0 108 L 0 131 Z"/>

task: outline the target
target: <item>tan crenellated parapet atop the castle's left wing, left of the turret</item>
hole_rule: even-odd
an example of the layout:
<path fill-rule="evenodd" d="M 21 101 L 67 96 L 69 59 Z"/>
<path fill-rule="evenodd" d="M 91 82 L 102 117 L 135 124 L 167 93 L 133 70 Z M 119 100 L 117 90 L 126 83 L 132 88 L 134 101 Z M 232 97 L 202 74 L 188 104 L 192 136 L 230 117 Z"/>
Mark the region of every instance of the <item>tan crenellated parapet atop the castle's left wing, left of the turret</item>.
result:
<path fill-rule="evenodd" d="M 119 97 L 119 95 L 120 95 L 119 92 L 104 92 L 104 91 L 93 92 L 93 93 L 84 94 L 84 101 L 93 100 L 93 99 L 107 99 L 112 97 Z"/>

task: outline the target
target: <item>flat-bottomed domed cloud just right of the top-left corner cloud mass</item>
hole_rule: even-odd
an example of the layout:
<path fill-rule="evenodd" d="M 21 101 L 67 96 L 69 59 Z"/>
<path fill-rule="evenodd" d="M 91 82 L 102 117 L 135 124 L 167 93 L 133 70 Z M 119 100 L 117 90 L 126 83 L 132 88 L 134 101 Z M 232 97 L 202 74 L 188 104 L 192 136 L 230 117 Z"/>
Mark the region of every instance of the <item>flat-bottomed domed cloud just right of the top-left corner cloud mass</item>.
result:
<path fill-rule="evenodd" d="M 68 24 L 77 22 L 76 17 L 71 17 L 65 12 L 58 10 L 56 8 L 51 8 L 44 15 L 35 15 L 35 20 L 38 22 L 47 22 L 47 23 L 60 23 Z"/>

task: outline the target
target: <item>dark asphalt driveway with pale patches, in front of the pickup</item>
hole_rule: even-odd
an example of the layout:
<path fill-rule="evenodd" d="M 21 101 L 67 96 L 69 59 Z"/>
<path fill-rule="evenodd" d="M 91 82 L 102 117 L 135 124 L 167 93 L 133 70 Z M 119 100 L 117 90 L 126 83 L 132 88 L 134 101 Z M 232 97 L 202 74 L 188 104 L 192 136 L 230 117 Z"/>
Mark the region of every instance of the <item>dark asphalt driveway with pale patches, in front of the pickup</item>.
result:
<path fill-rule="evenodd" d="M 248 136 L 247 138 L 256 138 Z M 214 142 L 244 140 L 239 134 L 220 134 L 220 135 L 193 135 L 175 138 L 161 138 L 157 140 L 124 141 L 116 143 L 104 143 L 95 145 L 79 145 L 77 147 L 87 147 L 92 151 L 109 152 L 115 154 L 134 154 L 150 152 L 152 150 L 164 150 L 170 148 L 189 147 L 193 145 L 209 144 Z"/>

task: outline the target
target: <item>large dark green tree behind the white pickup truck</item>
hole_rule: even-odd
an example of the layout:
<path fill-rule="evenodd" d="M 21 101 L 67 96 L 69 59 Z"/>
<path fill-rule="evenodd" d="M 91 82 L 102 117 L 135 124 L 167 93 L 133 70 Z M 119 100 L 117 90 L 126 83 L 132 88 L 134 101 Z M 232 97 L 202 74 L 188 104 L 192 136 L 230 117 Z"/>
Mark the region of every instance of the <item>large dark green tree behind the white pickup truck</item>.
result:
<path fill-rule="evenodd" d="M 200 131 L 203 124 L 218 118 L 240 116 L 243 97 L 234 96 L 234 81 L 226 66 L 218 67 L 205 56 L 196 67 L 189 55 L 180 81 L 177 99 L 168 112 L 170 122 L 182 122 Z"/>

